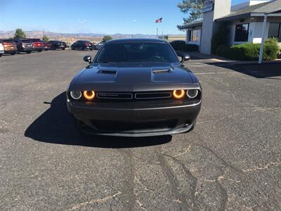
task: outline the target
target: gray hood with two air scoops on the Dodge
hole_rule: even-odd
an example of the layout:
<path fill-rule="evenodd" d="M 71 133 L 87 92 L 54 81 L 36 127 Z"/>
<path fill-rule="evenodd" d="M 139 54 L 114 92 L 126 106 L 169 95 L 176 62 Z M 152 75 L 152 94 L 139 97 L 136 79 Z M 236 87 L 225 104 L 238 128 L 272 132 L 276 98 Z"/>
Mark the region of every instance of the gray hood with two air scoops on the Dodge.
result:
<path fill-rule="evenodd" d="M 141 91 L 167 87 L 183 89 L 187 84 L 193 84 L 190 71 L 178 63 L 105 63 L 94 64 L 82 70 L 74 78 L 72 89 Z"/>

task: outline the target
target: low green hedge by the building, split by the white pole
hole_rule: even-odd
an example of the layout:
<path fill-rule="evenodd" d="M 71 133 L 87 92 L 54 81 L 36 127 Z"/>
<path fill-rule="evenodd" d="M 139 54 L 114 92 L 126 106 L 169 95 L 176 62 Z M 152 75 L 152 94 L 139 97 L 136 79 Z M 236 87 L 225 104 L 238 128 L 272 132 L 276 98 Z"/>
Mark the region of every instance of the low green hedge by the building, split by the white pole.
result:
<path fill-rule="evenodd" d="M 233 46 L 218 46 L 218 56 L 235 60 L 259 60 L 261 44 L 237 44 Z M 274 60 L 277 58 L 279 46 L 277 39 L 266 40 L 263 48 L 263 59 Z"/>

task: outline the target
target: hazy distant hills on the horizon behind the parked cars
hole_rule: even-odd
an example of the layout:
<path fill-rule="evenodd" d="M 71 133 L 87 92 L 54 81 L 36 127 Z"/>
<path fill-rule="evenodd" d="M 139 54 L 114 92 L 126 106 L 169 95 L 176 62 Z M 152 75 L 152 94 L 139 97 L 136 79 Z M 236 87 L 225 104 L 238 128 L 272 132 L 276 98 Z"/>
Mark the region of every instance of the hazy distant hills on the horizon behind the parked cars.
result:
<path fill-rule="evenodd" d="M 11 31 L 0 31 L 0 38 L 10 38 L 15 34 L 14 30 Z M 25 31 L 27 37 L 30 38 L 41 38 L 43 37 L 42 31 Z M 96 33 L 58 33 L 58 32 L 45 32 L 46 36 L 49 39 L 59 39 L 63 41 L 75 41 L 77 39 L 89 39 L 91 41 L 100 41 L 103 39 L 103 36 L 110 35 L 113 39 L 119 38 L 156 38 L 156 35 L 153 34 L 96 34 Z"/>

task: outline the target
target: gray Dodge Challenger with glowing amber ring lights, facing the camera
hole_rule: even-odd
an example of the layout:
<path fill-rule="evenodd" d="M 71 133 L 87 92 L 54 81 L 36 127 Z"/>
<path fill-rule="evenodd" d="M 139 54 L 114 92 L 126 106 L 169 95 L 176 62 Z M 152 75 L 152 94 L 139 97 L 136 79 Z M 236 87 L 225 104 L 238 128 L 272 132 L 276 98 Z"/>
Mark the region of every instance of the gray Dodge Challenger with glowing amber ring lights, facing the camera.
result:
<path fill-rule="evenodd" d="M 181 58 L 181 59 L 180 59 Z M 161 39 L 107 41 L 72 79 L 67 108 L 81 132 L 159 136 L 188 132 L 202 87 L 183 62 L 190 56 Z"/>

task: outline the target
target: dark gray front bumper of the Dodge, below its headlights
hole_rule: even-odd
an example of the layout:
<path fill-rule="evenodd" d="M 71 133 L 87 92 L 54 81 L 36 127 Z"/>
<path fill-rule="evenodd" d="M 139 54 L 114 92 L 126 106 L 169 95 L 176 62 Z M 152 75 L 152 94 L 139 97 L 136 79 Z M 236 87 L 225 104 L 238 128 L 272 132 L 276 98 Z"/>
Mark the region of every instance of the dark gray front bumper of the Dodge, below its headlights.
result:
<path fill-rule="evenodd" d="M 85 103 L 67 99 L 70 113 L 84 124 L 80 127 L 82 132 L 107 136 L 160 136 L 188 132 L 200 107 L 201 101 L 159 106 L 159 103 Z"/>

